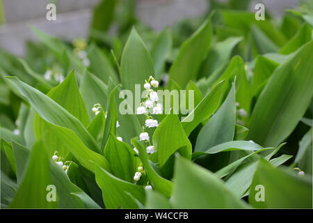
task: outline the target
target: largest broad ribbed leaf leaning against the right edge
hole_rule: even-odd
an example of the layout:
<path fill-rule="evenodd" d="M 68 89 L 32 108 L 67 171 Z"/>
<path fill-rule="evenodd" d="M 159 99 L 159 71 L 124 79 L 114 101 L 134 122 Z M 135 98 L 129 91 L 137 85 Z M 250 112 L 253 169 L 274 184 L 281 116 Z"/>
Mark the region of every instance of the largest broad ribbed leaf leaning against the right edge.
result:
<path fill-rule="evenodd" d="M 313 95 L 313 41 L 271 75 L 252 112 L 247 139 L 277 146 L 296 128 Z"/>

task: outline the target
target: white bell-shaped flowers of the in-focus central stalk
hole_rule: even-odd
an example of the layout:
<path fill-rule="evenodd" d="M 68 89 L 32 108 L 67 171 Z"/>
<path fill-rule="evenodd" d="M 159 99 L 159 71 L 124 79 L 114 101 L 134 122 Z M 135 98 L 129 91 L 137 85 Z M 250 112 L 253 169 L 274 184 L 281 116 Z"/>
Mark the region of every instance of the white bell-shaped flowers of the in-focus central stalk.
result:
<path fill-rule="evenodd" d="M 146 147 L 147 153 L 154 153 L 155 148 L 153 145 L 150 144 L 150 137 L 147 132 L 145 132 L 145 128 L 154 128 L 159 125 L 158 121 L 155 120 L 150 114 L 161 114 L 163 111 L 163 107 L 159 101 L 159 96 L 157 94 L 157 91 L 154 91 L 154 89 L 157 89 L 159 87 L 159 82 L 154 79 L 154 77 L 150 76 L 148 80 L 145 80 L 145 84 L 143 84 L 143 87 L 147 91 L 146 93 L 146 100 L 145 102 L 141 102 L 141 105 L 136 109 L 136 114 L 144 114 L 145 119 L 145 125 L 143 126 L 143 132 L 139 135 L 139 140 L 144 141 L 145 143 L 149 144 L 149 146 Z M 134 151 L 138 154 L 137 148 L 134 147 Z M 143 172 L 143 167 L 138 167 L 138 171 L 136 172 L 134 176 L 134 180 L 137 182 L 141 179 L 141 173 Z M 146 190 L 152 189 L 151 185 L 147 185 L 145 187 Z"/>

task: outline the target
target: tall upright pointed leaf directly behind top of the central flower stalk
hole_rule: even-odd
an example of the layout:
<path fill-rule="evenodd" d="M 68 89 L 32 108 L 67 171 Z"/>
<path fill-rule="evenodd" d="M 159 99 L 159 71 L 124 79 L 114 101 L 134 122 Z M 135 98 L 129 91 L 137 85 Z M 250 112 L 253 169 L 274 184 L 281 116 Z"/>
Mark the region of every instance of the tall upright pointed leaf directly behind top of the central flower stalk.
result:
<path fill-rule="evenodd" d="M 154 74 L 151 56 L 138 35 L 132 29 L 120 61 L 120 79 L 123 89 L 135 92 L 135 84 L 144 84 Z"/>

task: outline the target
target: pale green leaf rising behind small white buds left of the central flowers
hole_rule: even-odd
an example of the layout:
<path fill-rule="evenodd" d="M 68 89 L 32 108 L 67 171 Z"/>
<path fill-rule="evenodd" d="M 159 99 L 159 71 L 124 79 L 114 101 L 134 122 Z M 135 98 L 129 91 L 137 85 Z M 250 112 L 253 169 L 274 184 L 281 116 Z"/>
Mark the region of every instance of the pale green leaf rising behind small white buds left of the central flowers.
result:
<path fill-rule="evenodd" d="M 86 71 L 83 73 L 83 79 L 81 79 L 81 85 L 79 87 L 89 118 L 90 120 L 93 120 L 95 117 L 95 114 L 92 111 L 93 105 L 99 103 L 104 109 L 106 109 L 106 104 L 109 98 L 108 86 L 106 86 L 101 79 Z"/>

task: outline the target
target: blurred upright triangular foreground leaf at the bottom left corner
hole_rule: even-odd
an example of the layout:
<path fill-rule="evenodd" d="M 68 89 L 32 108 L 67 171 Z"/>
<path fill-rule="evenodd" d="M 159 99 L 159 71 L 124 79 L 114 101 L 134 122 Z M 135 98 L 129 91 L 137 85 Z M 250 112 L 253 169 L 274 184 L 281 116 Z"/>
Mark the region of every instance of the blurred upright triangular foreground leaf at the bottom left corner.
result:
<path fill-rule="evenodd" d="M 10 203 L 10 208 L 56 208 L 56 201 L 47 201 L 47 186 L 51 185 L 49 160 L 42 142 L 33 146 L 22 183 Z M 35 182 L 35 183 L 34 183 Z"/>

